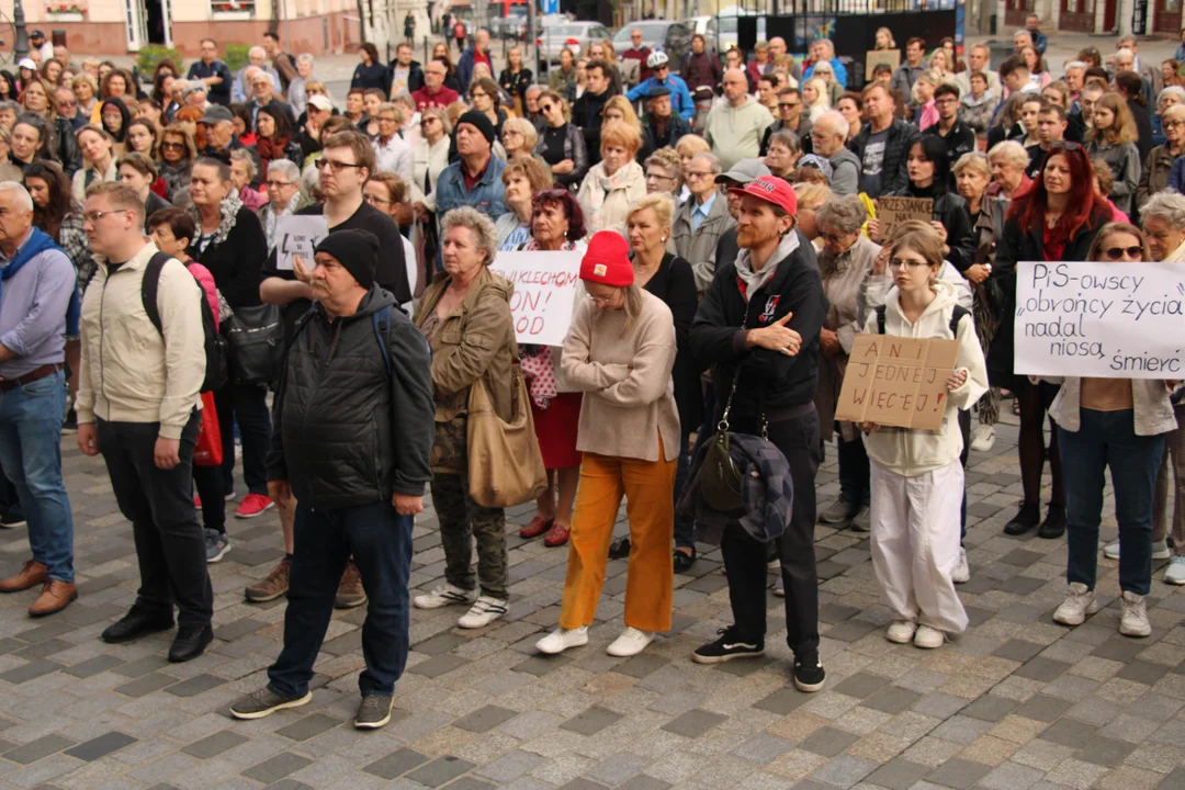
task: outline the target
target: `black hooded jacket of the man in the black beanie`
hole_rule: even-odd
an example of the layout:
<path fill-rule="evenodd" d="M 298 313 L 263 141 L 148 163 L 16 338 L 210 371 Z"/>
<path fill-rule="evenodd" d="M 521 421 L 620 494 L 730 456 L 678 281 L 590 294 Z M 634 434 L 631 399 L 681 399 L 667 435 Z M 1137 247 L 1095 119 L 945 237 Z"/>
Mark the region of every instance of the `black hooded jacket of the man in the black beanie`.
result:
<path fill-rule="evenodd" d="M 386 306 L 384 352 L 373 314 Z M 353 315 L 331 319 L 314 302 L 284 360 L 268 480 L 287 480 L 301 505 L 319 509 L 422 495 L 431 480 L 430 366 L 423 335 L 377 284 Z"/>

